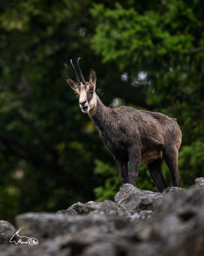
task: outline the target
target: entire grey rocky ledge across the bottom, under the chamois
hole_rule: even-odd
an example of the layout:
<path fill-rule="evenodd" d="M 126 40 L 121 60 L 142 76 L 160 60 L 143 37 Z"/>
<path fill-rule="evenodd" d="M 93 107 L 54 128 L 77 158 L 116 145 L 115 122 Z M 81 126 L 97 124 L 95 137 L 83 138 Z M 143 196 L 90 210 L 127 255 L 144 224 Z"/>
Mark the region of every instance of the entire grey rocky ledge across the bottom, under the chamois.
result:
<path fill-rule="evenodd" d="M 163 193 L 124 184 L 115 200 L 80 202 L 56 213 L 27 212 L 15 227 L 0 221 L 0 256 L 204 255 L 204 178 Z M 39 244 L 15 244 L 21 236 Z M 26 240 L 26 237 L 22 240 Z"/>

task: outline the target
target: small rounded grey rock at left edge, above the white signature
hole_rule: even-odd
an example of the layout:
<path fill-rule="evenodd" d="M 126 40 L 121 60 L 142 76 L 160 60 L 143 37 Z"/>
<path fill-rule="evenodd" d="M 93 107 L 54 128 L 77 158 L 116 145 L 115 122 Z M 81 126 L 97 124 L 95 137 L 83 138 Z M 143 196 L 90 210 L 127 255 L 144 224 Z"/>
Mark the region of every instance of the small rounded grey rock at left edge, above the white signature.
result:
<path fill-rule="evenodd" d="M 16 228 L 11 223 L 6 220 L 0 220 L 0 244 L 9 244 L 16 231 Z"/>

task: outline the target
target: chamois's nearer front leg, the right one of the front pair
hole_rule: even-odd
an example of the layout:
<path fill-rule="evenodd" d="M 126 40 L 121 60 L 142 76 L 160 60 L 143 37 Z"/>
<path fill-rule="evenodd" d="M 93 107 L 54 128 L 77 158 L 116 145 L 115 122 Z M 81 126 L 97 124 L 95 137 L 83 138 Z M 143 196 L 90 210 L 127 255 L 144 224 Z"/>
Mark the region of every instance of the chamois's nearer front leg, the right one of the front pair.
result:
<path fill-rule="evenodd" d="M 129 156 L 129 183 L 135 186 L 135 179 L 138 175 L 138 165 L 140 163 L 140 148 L 131 147 L 128 152 Z"/>

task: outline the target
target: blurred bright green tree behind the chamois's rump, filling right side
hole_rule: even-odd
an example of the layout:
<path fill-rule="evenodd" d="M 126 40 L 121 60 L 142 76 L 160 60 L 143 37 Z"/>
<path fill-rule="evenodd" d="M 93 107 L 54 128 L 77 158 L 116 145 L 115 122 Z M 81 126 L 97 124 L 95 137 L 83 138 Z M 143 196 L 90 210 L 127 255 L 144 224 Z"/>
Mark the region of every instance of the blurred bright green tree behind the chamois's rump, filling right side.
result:
<path fill-rule="evenodd" d="M 177 118 L 183 132 L 180 177 L 182 186 L 189 186 L 204 171 L 202 1 L 148 3 L 94 4 L 98 24 L 92 47 L 140 88 L 149 109 Z"/>

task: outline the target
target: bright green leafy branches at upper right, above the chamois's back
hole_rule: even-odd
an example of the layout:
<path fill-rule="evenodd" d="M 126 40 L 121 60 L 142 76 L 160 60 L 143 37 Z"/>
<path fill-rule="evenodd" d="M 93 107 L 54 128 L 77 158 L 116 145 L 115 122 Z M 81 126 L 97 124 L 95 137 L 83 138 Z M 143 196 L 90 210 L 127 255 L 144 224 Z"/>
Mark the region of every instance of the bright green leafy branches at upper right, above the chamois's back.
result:
<path fill-rule="evenodd" d="M 180 1 L 175 2 L 176 5 L 173 7 L 179 12 L 177 8 L 180 9 L 181 6 L 178 2 Z M 166 54 L 178 51 L 180 54 L 186 54 L 188 49 L 193 47 L 194 37 L 187 33 L 188 29 L 186 33 L 179 32 L 178 25 L 172 22 L 171 17 L 171 12 L 175 10 L 171 10 L 171 4 L 166 7 L 170 8 L 169 12 L 147 10 L 140 15 L 134 8 L 126 9 L 119 3 L 115 3 L 114 9 L 105 8 L 103 4 L 95 4 L 92 15 L 99 17 L 100 23 L 92 40 L 93 48 L 103 56 L 103 61 L 117 60 L 121 70 L 128 67 L 129 58 L 131 63 L 140 66 L 144 60 L 161 60 Z M 192 13 L 184 13 L 185 18 L 186 15 Z M 197 19 L 191 22 L 191 26 L 202 25 Z M 166 29 L 169 26 L 170 29 Z M 175 29 L 177 33 L 172 33 Z"/>

